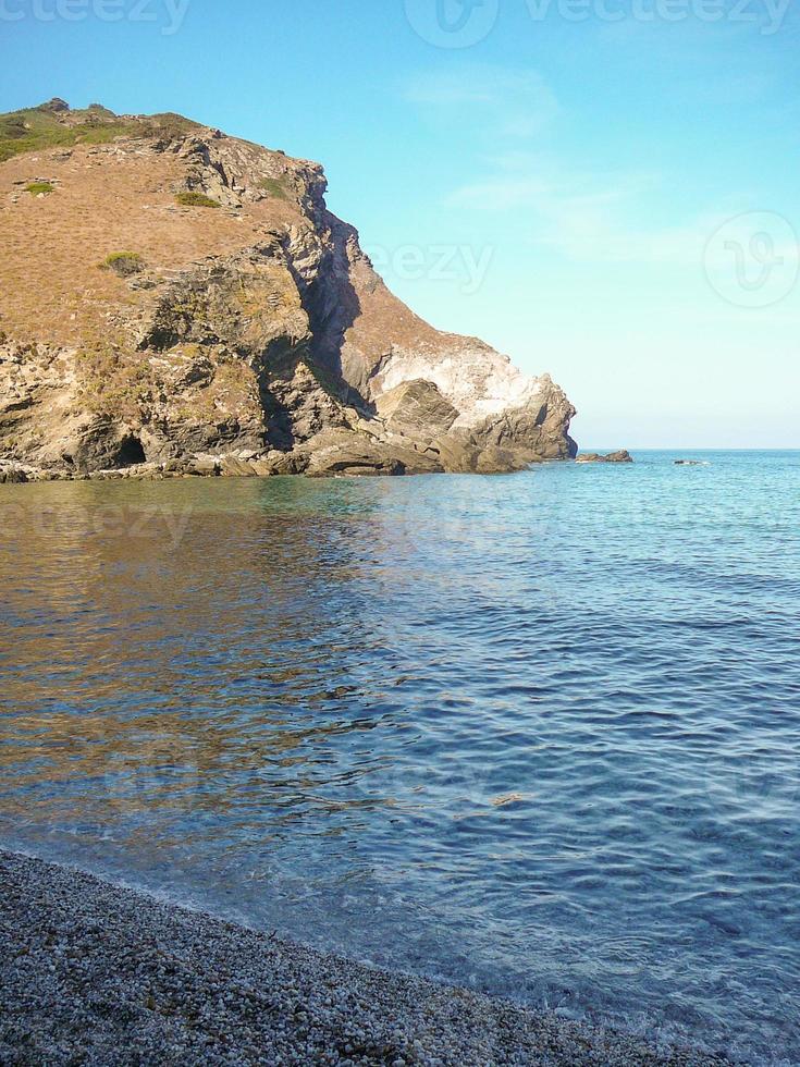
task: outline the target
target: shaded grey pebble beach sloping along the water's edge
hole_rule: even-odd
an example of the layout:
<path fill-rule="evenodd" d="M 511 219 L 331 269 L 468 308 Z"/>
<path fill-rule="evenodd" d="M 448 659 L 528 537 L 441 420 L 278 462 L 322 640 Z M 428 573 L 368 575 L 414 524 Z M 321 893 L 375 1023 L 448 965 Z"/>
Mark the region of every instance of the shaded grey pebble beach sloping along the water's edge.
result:
<path fill-rule="evenodd" d="M 0 851 L 0 1064 L 707 1065 Z"/>

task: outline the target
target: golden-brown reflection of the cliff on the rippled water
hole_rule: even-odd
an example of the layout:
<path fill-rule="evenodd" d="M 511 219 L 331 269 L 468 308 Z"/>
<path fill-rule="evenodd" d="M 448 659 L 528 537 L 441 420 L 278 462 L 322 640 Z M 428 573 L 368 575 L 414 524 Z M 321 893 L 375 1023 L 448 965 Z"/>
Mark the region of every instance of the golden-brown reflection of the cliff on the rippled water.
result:
<path fill-rule="evenodd" d="M 224 818 L 296 808 L 298 794 L 330 810 L 315 797 L 337 785 L 328 738 L 374 725 L 348 701 L 380 654 L 380 635 L 358 634 L 376 508 L 345 491 L 320 514 L 304 485 L 254 483 L 239 507 L 238 486 L 221 483 L 171 486 L 167 500 L 163 487 L 58 487 L 33 506 L 20 494 L 8 811 L 48 823 L 56 800 L 64 823 L 108 827 L 150 806 Z M 48 801 L 30 808 L 42 774 Z"/>

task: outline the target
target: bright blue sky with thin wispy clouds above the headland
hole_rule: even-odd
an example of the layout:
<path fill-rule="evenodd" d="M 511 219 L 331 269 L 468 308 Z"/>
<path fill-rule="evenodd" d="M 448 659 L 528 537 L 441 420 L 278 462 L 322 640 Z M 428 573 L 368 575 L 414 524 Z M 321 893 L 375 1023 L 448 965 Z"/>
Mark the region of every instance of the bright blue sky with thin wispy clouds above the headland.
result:
<path fill-rule="evenodd" d="M 0 111 L 316 159 L 389 285 L 584 447 L 800 447 L 789 0 L 0 0 Z M 0 254 L 1 254 L 0 234 Z"/>

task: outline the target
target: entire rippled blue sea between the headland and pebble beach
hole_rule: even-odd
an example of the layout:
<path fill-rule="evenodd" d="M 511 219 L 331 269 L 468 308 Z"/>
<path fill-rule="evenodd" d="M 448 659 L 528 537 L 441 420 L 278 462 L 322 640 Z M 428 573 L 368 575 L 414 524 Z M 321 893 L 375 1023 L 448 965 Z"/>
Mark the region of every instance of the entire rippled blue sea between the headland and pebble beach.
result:
<path fill-rule="evenodd" d="M 2 487 L 0 841 L 800 1062 L 800 453 Z"/>

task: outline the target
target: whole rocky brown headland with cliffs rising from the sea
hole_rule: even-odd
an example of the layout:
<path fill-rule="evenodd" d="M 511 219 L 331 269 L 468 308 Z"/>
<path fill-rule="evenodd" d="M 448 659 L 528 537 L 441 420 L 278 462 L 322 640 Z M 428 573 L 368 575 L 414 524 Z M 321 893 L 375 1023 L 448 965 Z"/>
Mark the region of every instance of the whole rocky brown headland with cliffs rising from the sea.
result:
<path fill-rule="evenodd" d="M 174 115 L 0 118 L 0 463 L 402 474 L 575 455 L 575 412 L 394 297 L 321 168 Z M 153 466 L 156 465 L 156 466 Z"/>

